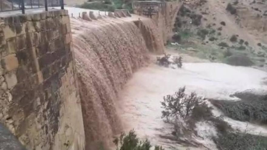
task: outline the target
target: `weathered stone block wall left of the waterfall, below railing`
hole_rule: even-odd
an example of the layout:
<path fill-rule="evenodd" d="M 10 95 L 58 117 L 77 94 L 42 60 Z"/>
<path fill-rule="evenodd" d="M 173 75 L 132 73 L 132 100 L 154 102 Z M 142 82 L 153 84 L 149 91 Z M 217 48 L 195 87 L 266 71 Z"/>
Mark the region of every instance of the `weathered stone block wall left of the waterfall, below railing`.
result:
<path fill-rule="evenodd" d="M 68 12 L 0 22 L 0 121 L 27 149 L 83 149 Z"/>

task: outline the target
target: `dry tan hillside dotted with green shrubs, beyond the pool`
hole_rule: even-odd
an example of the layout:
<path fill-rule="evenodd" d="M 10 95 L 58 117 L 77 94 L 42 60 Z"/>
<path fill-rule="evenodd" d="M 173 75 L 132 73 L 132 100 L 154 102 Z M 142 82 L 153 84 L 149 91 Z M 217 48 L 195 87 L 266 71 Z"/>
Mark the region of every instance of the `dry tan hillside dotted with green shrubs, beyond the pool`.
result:
<path fill-rule="evenodd" d="M 266 69 L 266 13 L 265 0 L 187 0 L 177 13 L 172 47 L 213 62 Z"/>

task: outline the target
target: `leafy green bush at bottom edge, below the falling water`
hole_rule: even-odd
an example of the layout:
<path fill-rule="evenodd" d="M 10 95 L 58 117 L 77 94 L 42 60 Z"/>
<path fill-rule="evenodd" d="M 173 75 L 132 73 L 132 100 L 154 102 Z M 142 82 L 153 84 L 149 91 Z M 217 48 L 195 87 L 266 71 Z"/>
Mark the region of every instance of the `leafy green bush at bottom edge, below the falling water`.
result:
<path fill-rule="evenodd" d="M 150 150 L 152 145 L 146 139 L 141 141 L 137 138 L 134 130 L 131 130 L 128 134 L 122 133 L 120 138 L 115 138 L 113 143 L 117 146 L 116 150 Z M 155 146 L 154 150 L 164 150 L 161 146 Z"/>

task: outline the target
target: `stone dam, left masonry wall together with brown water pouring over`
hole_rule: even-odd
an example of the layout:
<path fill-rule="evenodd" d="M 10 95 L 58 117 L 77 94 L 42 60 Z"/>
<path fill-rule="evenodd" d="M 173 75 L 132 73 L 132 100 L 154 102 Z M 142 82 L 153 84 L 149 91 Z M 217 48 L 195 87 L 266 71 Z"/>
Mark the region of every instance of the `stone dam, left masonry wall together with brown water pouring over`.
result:
<path fill-rule="evenodd" d="M 149 53 L 164 53 L 161 26 L 151 18 L 127 10 L 81 14 L 0 14 L 0 123 L 26 149 L 110 147 L 123 129 L 121 88 Z"/>

